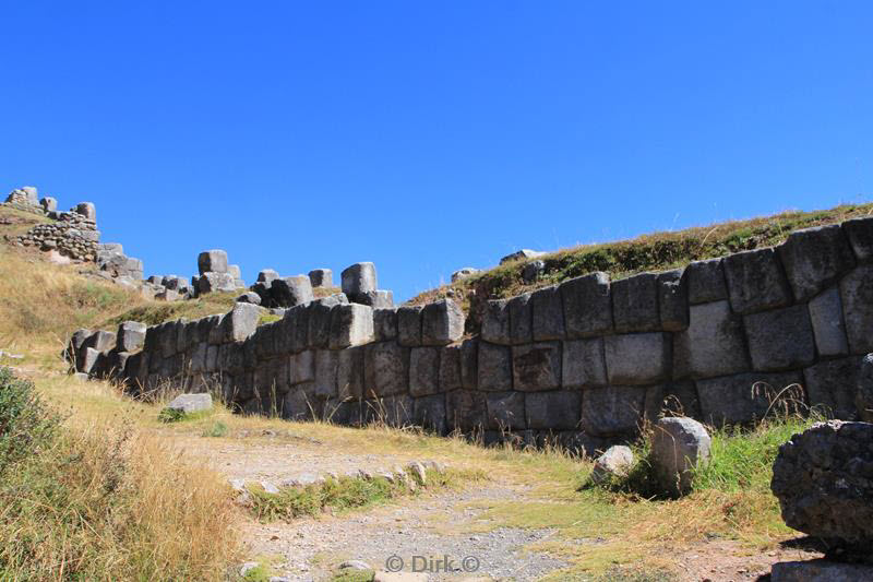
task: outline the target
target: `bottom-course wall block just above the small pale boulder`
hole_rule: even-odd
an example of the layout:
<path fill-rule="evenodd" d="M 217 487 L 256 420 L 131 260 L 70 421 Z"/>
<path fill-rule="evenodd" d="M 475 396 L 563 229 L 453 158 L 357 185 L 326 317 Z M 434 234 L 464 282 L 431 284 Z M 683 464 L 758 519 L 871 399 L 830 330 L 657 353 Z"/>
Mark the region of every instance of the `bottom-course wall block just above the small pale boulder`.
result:
<path fill-rule="evenodd" d="M 635 435 L 645 401 L 642 387 L 587 388 L 582 392 L 582 429 L 595 437 Z"/>

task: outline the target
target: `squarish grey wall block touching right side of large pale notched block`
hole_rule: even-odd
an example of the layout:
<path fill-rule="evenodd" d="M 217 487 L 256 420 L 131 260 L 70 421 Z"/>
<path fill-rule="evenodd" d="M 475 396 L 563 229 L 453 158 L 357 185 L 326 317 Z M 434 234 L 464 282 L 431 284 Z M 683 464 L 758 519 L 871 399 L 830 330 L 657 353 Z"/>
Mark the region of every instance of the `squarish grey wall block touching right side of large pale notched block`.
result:
<path fill-rule="evenodd" d="M 805 305 L 745 316 L 743 324 L 755 370 L 801 368 L 815 359 L 815 340 Z"/>

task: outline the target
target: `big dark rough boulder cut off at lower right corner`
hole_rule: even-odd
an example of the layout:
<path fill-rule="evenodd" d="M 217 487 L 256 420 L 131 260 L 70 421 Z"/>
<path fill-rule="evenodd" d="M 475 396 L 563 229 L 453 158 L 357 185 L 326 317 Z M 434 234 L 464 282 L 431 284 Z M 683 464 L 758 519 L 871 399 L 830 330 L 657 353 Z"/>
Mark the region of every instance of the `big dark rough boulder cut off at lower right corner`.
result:
<path fill-rule="evenodd" d="M 870 560 L 873 424 L 818 423 L 779 448 L 773 494 L 789 527 L 827 541 L 829 553 Z"/>

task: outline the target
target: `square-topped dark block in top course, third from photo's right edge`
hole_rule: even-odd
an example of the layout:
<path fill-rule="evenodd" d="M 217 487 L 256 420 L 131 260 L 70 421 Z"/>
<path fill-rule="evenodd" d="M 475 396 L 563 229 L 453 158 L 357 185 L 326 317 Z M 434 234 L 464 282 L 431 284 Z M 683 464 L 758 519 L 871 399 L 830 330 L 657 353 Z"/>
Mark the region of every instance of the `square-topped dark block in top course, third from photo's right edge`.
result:
<path fill-rule="evenodd" d="M 791 289 L 772 248 L 730 254 L 723 259 L 730 305 L 741 314 L 791 304 Z"/>

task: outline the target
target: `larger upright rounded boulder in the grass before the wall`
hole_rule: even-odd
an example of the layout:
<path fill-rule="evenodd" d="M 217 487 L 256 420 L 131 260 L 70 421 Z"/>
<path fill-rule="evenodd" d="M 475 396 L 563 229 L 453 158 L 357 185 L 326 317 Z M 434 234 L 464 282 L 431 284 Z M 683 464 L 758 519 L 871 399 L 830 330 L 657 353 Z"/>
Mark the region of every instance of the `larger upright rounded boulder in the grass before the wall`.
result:
<path fill-rule="evenodd" d="M 661 490 L 672 496 L 691 490 L 694 468 L 709 459 L 713 439 L 692 418 L 661 418 L 651 432 L 649 463 Z"/>

